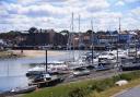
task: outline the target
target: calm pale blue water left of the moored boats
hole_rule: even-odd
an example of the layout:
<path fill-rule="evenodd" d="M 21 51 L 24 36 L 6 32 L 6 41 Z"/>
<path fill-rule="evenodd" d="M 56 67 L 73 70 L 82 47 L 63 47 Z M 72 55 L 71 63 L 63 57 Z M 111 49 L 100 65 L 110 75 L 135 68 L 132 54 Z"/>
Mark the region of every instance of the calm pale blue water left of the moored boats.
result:
<path fill-rule="evenodd" d="M 75 57 L 78 57 L 78 54 L 79 51 L 75 51 Z M 69 54 L 68 52 L 62 56 L 48 57 L 48 61 L 65 60 L 72 56 L 72 53 Z M 32 68 L 30 63 L 43 62 L 45 62 L 45 57 L 0 60 L 0 92 L 27 86 L 28 80 L 25 76 L 25 73 Z"/>

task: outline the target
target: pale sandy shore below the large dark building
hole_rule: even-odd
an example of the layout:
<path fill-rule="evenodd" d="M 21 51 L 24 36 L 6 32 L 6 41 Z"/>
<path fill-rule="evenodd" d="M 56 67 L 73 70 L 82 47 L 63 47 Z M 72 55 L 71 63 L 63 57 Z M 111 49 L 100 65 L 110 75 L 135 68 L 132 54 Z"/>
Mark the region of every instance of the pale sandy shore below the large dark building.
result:
<path fill-rule="evenodd" d="M 12 50 L 12 52 L 15 54 L 21 54 L 23 57 L 30 57 L 30 58 L 46 56 L 46 51 L 43 50 L 23 50 L 23 52 L 21 52 L 21 50 Z M 48 50 L 48 56 L 61 56 L 65 53 L 67 52 Z"/>

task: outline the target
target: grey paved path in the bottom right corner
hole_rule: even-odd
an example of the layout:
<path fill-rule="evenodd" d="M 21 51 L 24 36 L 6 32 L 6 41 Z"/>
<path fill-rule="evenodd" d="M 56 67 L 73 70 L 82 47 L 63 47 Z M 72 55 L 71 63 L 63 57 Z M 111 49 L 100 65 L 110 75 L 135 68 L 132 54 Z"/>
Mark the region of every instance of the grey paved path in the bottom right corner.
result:
<path fill-rule="evenodd" d="M 125 90 L 120 94 L 118 93 L 118 95 L 114 97 L 140 97 L 140 86 Z"/>

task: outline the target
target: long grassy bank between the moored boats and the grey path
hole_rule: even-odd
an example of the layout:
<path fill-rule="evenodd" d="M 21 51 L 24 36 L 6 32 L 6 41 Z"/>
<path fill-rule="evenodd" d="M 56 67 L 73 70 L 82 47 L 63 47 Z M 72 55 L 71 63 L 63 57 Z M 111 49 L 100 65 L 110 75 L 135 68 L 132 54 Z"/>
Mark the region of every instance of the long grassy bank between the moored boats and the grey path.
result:
<path fill-rule="evenodd" d="M 133 84 L 130 83 L 122 87 L 118 87 L 115 85 L 115 82 L 119 80 L 128 80 Z M 47 87 L 26 94 L 23 97 L 109 97 L 121 90 L 120 88 L 137 85 L 136 82 L 140 83 L 140 71 L 124 73 L 104 80 L 89 80 Z"/>

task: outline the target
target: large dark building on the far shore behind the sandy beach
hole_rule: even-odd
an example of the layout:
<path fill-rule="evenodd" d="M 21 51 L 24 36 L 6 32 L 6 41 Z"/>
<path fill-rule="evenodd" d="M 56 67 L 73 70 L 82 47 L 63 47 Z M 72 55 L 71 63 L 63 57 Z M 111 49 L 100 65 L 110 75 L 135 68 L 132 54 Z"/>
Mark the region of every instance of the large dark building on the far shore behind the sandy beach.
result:
<path fill-rule="evenodd" d="M 16 43 L 20 46 L 62 46 L 67 45 L 67 38 L 60 33 L 56 33 L 54 29 L 40 29 L 35 33 L 22 33 L 16 37 Z"/>

